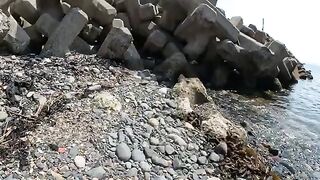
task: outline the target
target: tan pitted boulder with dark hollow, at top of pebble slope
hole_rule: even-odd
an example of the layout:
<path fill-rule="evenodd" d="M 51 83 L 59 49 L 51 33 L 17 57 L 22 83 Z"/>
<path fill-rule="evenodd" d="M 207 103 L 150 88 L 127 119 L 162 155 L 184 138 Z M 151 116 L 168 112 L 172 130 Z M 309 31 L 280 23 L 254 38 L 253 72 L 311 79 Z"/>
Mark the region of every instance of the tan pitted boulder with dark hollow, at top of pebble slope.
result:
<path fill-rule="evenodd" d="M 211 100 L 199 78 L 180 76 L 172 91 L 176 97 L 188 98 L 191 105 L 200 105 Z"/>

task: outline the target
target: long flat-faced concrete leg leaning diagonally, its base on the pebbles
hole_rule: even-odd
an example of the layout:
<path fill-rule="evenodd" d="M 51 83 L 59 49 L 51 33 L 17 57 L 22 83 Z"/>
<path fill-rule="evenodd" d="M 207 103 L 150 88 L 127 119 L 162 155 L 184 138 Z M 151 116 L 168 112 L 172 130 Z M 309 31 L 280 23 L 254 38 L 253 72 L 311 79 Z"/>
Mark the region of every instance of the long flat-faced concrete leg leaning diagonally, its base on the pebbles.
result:
<path fill-rule="evenodd" d="M 50 35 L 41 55 L 64 56 L 87 22 L 88 16 L 81 9 L 71 9 Z"/>

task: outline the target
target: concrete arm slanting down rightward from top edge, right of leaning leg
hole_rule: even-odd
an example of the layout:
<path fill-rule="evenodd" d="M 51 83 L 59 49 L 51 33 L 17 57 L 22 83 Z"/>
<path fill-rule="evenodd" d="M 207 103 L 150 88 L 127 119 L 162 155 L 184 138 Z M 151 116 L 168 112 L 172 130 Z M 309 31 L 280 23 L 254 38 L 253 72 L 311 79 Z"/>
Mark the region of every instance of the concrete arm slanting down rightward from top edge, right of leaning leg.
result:
<path fill-rule="evenodd" d="M 90 18 L 96 20 L 99 25 L 107 26 L 112 23 L 117 10 L 105 0 L 63 0 L 72 7 L 81 8 Z"/>

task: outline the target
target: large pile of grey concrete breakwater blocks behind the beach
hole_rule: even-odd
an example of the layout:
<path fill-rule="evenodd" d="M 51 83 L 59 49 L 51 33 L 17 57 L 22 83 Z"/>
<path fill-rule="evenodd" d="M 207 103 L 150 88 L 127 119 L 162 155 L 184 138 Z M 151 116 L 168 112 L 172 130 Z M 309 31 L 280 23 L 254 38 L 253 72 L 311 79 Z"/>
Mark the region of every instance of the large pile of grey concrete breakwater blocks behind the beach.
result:
<path fill-rule="evenodd" d="M 180 74 L 213 88 L 279 90 L 312 79 L 286 46 L 216 0 L 2 0 L 1 49 L 13 54 L 96 54 L 160 81 Z M 6 50 L 4 50 L 6 49 Z"/>

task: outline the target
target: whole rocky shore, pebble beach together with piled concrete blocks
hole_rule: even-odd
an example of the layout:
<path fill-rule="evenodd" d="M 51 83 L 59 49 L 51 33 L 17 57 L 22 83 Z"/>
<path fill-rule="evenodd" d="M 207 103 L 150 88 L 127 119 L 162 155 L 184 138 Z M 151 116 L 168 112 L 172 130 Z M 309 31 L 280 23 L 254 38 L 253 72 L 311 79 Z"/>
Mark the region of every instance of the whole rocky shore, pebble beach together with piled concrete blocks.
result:
<path fill-rule="evenodd" d="M 256 149 L 206 88 L 280 91 L 313 77 L 216 4 L 2 0 L 0 176 L 279 179 L 277 150 Z"/>

